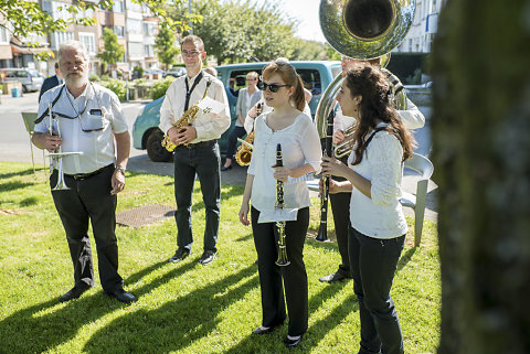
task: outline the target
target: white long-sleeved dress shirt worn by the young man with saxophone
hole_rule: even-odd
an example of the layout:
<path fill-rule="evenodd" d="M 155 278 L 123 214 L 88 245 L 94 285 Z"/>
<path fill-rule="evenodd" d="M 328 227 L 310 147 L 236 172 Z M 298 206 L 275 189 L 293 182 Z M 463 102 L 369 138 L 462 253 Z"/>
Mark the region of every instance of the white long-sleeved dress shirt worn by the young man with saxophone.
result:
<path fill-rule="evenodd" d="M 188 75 L 181 76 L 177 78 L 171 84 L 171 86 L 169 86 L 166 93 L 166 98 L 163 99 L 162 106 L 160 107 L 159 128 L 165 133 L 168 133 L 168 130 L 173 127 L 172 124 L 177 121 L 180 117 L 182 117 L 182 115 L 184 114 L 184 81 L 188 79 L 188 87 L 191 88 L 198 75 L 191 78 L 189 78 Z M 204 92 L 206 89 L 206 79 L 210 79 L 212 82 L 208 90 L 208 97 L 215 99 L 216 101 L 220 101 L 225 106 L 220 114 L 204 114 L 202 110 L 199 110 L 197 118 L 192 122 L 192 126 L 197 130 L 197 138 L 191 143 L 221 138 L 221 135 L 226 129 L 229 129 L 231 122 L 229 99 L 226 97 L 226 92 L 224 90 L 223 83 L 221 83 L 221 81 L 208 73 L 203 73 L 203 78 L 199 82 L 199 84 L 191 93 L 188 108 L 190 108 L 193 104 L 199 101 L 204 96 Z"/>

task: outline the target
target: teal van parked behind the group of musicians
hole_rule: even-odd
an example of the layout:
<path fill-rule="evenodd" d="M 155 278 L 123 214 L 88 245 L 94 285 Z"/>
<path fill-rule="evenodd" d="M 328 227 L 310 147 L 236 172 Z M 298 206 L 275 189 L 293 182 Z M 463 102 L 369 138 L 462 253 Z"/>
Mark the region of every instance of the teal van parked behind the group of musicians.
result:
<path fill-rule="evenodd" d="M 317 61 L 317 62 L 290 62 L 295 66 L 298 74 L 301 76 L 304 85 L 312 94 L 309 107 L 311 115 L 315 116 L 318 103 L 331 81 L 340 74 L 340 62 L 333 61 Z M 215 67 L 218 69 L 218 78 L 226 87 L 227 95 L 231 95 L 227 87 L 231 78 L 235 78 L 235 88 L 245 87 L 246 74 L 248 72 L 257 72 L 261 74 L 263 67 L 268 63 L 246 63 L 246 64 L 231 64 Z M 232 95 L 231 95 L 232 96 Z M 166 96 L 165 96 L 166 97 Z M 132 144 L 136 149 L 147 149 L 149 159 L 155 162 L 165 162 L 171 158 L 171 152 L 168 152 L 161 147 L 160 142 L 163 132 L 158 128 L 160 124 L 160 106 L 163 98 L 156 99 L 147 104 L 144 110 L 138 115 L 132 126 Z M 221 154 L 224 157 L 227 149 L 227 140 L 232 127 L 235 125 L 237 116 L 235 115 L 235 105 L 237 99 L 229 97 L 231 105 L 231 127 L 221 136 L 219 140 Z"/>

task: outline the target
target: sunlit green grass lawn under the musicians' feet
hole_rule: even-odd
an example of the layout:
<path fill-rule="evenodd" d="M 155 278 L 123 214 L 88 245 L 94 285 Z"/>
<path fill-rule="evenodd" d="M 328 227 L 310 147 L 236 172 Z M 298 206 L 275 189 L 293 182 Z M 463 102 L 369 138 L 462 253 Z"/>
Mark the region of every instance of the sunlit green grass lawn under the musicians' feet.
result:
<path fill-rule="evenodd" d="M 172 189 L 172 178 L 128 172 L 118 212 L 152 203 L 174 207 Z M 242 193 L 240 186 L 222 187 L 219 256 L 212 265 L 198 262 L 204 205 L 195 185 L 195 244 L 182 262 L 168 262 L 177 244 L 173 218 L 140 228 L 117 227 L 119 271 L 138 302 L 125 305 L 106 297 L 96 267 L 93 289 L 59 303 L 73 286 L 73 270 L 46 173 L 34 175 L 31 164 L 0 162 L 0 353 L 357 353 L 352 282 L 318 281 L 336 270 L 340 256 L 335 243 L 312 239 L 319 223 L 317 200 L 304 251 L 308 332 L 289 351 L 283 345 L 287 325 L 269 335 L 251 335 L 262 314 L 252 230 L 237 218 Z M 425 222 L 422 246 L 414 248 L 413 219 L 407 221 L 411 230 L 392 296 L 405 352 L 434 353 L 441 308 L 436 225 Z"/>

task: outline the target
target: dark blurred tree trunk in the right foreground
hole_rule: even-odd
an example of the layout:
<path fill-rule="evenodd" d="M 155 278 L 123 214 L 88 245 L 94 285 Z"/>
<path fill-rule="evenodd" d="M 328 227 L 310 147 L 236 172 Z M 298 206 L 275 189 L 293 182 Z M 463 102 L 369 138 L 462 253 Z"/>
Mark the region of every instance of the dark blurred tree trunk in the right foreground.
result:
<path fill-rule="evenodd" d="M 449 0 L 434 44 L 438 354 L 530 353 L 530 0 Z"/>

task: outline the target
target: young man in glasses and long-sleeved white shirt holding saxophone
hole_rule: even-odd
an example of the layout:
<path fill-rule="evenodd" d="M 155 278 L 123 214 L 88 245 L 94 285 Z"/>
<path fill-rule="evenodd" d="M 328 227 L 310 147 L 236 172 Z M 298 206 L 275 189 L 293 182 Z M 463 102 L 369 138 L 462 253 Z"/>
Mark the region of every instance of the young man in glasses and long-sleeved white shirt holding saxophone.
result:
<path fill-rule="evenodd" d="M 181 53 L 188 73 L 177 78 L 168 88 L 160 108 L 159 126 L 177 146 L 173 161 L 178 248 L 170 261 L 178 262 L 191 253 L 191 203 L 197 174 L 206 216 L 204 251 L 199 261 L 208 265 L 215 259 L 218 253 L 215 245 L 221 204 L 221 154 L 218 139 L 229 129 L 231 119 L 223 84 L 202 71 L 202 61 L 206 56 L 202 40 L 197 35 L 186 36 L 182 40 Z M 173 124 L 203 98 L 204 94 L 223 104 L 224 108 L 219 114 L 199 109 L 197 115 L 191 117 L 191 125 L 176 128 Z"/>

